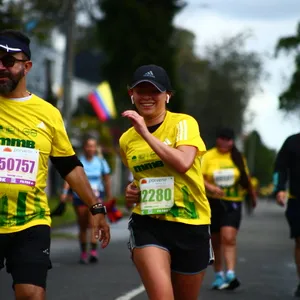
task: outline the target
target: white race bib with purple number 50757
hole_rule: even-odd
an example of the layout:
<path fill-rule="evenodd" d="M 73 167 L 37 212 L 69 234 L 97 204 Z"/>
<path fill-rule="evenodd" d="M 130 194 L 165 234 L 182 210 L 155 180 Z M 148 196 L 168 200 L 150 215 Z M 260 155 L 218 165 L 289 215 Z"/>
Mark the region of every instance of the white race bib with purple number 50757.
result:
<path fill-rule="evenodd" d="M 35 186 L 39 151 L 0 146 L 0 182 Z"/>

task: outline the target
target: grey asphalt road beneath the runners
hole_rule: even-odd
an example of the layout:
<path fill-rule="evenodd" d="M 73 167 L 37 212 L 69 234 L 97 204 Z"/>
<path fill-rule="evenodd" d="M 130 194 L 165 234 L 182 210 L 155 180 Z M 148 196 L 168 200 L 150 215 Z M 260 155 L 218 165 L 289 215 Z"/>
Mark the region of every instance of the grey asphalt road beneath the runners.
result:
<path fill-rule="evenodd" d="M 127 220 L 112 226 L 112 242 L 100 252 L 97 265 L 79 265 L 78 243 L 73 238 L 53 238 L 48 300 L 145 300 L 139 276 L 127 250 Z M 74 235 L 76 228 L 59 233 Z M 57 235 L 58 232 L 55 232 Z M 237 274 L 242 285 L 234 292 L 212 291 L 212 268 L 207 271 L 201 300 L 293 299 L 297 285 L 293 242 L 288 238 L 284 211 L 272 202 L 261 201 L 252 217 L 244 217 L 238 239 Z M 14 299 L 10 277 L 0 272 L 0 299 Z M 187 299 L 188 300 L 188 299 Z"/>

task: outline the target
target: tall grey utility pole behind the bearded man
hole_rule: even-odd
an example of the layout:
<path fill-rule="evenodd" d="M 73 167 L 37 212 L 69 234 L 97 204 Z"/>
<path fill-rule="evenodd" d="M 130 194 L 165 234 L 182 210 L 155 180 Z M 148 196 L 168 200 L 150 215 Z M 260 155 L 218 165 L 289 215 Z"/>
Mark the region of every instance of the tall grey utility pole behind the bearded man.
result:
<path fill-rule="evenodd" d="M 66 5 L 66 48 L 63 67 L 63 118 L 65 121 L 66 130 L 70 130 L 72 117 L 72 78 L 73 78 L 73 63 L 74 63 L 74 27 L 75 27 L 75 1 L 65 0 Z"/>

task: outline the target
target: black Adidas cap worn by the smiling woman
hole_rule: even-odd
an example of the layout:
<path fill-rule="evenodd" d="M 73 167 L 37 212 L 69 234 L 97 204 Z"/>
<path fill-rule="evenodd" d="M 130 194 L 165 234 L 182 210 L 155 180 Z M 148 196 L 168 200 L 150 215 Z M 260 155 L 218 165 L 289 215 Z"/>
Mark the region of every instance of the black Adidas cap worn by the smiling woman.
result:
<path fill-rule="evenodd" d="M 161 92 L 173 90 L 165 69 L 156 65 L 144 65 L 137 68 L 129 88 L 132 89 L 141 82 L 150 82 Z"/>

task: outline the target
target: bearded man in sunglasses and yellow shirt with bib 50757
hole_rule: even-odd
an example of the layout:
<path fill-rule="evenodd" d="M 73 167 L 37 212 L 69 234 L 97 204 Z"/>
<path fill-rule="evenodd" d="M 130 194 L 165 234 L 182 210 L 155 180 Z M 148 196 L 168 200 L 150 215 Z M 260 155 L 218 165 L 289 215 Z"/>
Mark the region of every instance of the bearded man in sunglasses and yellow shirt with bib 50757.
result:
<path fill-rule="evenodd" d="M 30 40 L 0 31 L 0 269 L 12 275 L 15 298 L 45 299 L 51 268 L 48 159 L 94 215 L 94 234 L 109 243 L 106 209 L 98 203 L 59 111 L 26 89 Z"/>

